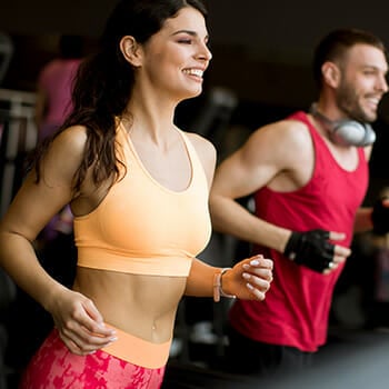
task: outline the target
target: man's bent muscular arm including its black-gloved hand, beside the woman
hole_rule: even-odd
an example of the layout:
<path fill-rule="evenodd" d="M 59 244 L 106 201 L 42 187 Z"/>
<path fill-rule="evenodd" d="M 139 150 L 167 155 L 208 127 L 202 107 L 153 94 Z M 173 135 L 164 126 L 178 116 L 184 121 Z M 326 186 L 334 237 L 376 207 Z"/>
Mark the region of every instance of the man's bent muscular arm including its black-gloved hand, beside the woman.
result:
<path fill-rule="evenodd" d="M 315 166 L 311 138 L 305 124 L 285 120 L 257 130 L 217 169 L 210 194 L 213 228 L 238 239 L 272 248 L 297 265 L 318 272 L 335 270 L 350 250 L 331 243 L 337 231 L 291 231 L 251 215 L 236 200 L 268 186 L 297 190 L 310 180 Z"/>

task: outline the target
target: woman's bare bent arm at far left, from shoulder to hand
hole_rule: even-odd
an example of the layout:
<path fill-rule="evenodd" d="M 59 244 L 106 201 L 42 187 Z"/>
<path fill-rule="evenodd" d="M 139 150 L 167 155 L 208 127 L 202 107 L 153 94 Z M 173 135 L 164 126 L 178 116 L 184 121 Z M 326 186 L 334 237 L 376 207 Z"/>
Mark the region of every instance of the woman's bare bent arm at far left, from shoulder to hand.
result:
<path fill-rule="evenodd" d="M 42 161 L 42 178 L 31 171 L 0 222 L 0 265 L 52 316 L 62 340 L 74 353 L 108 343 L 111 336 L 93 303 L 51 278 L 38 261 L 32 242 L 47 222 L 73 199 L 72 178 L 86 142 L 82 128 L 60 134 Z M 54 260 L 54 259 L 53 259 Z M 92 336 L 92 333 L 101 337 Z"/>

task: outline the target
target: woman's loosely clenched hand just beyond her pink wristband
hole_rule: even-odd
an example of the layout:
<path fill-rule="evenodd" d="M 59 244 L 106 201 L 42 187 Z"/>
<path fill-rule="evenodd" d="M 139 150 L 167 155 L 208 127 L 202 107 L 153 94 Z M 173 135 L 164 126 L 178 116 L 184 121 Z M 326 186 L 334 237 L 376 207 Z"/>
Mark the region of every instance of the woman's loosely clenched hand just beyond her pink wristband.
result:
<path fill-rule="evenodd" d="M 265 300 L 272 281 L 271 259 L 255 256 L 238 262 L 222 276 L 222 290 L 242 300 Z"/>

